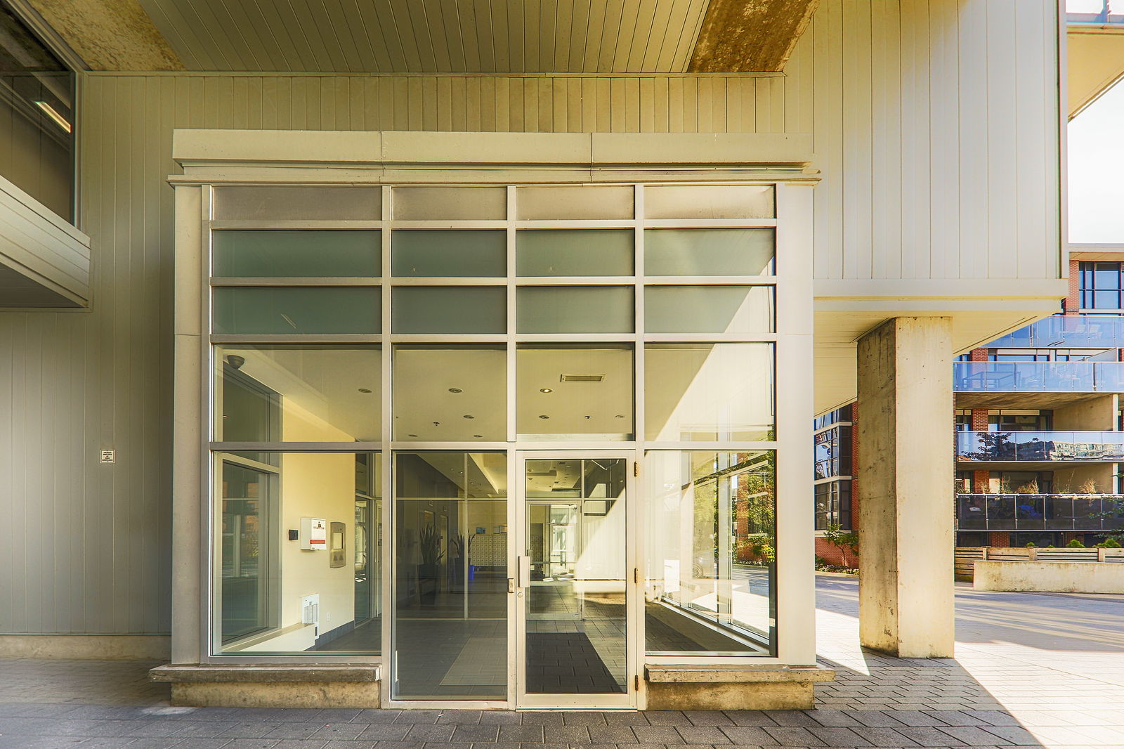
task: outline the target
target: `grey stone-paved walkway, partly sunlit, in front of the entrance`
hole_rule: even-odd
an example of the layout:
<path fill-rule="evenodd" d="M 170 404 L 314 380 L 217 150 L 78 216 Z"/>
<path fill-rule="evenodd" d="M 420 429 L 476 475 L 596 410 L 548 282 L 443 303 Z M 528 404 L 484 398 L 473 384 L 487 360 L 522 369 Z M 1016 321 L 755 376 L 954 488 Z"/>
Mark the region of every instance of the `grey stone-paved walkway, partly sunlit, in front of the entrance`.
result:
<path fill-rule="evenodd" d="M 0 749 L 1124 749 L 1124 596 L 959 586 L 957 658 L 898 660 L 858 647 L 854 579 L 817 588 L 814 711 L 171 707 L 149 664 L 0 659 Z"/>

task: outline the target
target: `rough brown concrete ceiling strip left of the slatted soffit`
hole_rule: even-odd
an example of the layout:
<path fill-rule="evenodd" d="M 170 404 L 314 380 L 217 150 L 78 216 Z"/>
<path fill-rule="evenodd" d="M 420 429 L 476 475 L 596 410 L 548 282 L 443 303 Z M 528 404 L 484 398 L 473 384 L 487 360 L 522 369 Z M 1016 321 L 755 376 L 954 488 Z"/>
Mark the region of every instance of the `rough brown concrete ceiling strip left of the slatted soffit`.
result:
<path fill-rule="evenodd" d="M 137 0 L 25 0 L 92 70 L 183 70 Z"/>

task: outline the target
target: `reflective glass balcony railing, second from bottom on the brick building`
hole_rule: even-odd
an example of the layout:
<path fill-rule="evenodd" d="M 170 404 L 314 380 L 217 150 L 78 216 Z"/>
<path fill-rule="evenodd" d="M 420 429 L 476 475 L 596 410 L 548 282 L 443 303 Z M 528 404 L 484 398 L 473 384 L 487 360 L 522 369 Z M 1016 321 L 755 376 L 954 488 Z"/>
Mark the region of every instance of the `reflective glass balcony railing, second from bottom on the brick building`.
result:
<path fill-rule="evenodd" d="M 1124 432 L 957 432 L 957 460 L 1124 462 Z"/>

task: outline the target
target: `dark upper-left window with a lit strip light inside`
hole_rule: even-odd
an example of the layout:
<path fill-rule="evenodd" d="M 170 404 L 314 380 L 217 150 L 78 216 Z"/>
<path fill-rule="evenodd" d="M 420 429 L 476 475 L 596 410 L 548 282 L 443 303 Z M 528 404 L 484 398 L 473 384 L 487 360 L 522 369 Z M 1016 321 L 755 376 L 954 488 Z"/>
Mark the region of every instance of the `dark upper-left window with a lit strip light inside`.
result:
<path fill-rule="evenodd" d="M 74 73 L 4 6 L 0 175 L 74 220 Z"/>

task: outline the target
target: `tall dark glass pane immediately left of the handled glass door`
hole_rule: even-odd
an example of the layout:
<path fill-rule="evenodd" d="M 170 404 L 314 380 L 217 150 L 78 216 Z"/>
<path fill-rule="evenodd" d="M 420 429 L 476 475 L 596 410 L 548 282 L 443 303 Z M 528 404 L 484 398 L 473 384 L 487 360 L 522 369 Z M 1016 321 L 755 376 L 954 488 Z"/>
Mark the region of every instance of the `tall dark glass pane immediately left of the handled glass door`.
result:
<path fill-rule="evenodd" d="M 506 698 L 507 455 L 395 460 L 392 698 Z"/>

